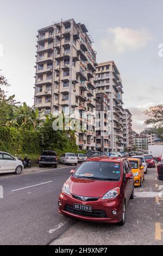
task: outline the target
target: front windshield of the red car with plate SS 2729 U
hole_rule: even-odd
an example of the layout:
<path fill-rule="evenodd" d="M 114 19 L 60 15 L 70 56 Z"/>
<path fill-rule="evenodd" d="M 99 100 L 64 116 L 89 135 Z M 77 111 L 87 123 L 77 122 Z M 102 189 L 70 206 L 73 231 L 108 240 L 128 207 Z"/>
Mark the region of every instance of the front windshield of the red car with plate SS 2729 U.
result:
<path fill-rule="evenodd" d="M 120 175 L 120 163 L 90 161 L 81 164 L 73 176 L 83 179 L 119 180 Z"/>

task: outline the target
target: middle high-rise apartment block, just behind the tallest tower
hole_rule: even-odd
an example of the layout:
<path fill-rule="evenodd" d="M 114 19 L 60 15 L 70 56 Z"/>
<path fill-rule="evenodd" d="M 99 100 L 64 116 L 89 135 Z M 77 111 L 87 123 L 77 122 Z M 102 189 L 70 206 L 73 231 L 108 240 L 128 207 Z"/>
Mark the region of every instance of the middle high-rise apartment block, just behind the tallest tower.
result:
<path fill-rule="evenodd" d="M 95 85 L 96 97 L 101 93 L 105 93 L 108 97 L 110 118 L 108 149 L 109 151 L 123 151 L 123 86 L 120 72 L 114 61 L 98 63 Z"/>

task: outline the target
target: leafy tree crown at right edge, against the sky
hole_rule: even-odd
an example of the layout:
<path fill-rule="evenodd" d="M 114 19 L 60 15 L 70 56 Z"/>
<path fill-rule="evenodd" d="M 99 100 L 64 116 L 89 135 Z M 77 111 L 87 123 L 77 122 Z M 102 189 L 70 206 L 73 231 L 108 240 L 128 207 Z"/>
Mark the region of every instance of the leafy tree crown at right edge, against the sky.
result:
<path fill-rule="evenodd" d="M 149 117 L 145 121 L 146 125 L 153 125 L 157 128 L 163 126 L 163 105 L 160 104 L 154 107 L 150 107 L 144 113 Z"/>

